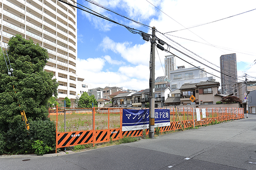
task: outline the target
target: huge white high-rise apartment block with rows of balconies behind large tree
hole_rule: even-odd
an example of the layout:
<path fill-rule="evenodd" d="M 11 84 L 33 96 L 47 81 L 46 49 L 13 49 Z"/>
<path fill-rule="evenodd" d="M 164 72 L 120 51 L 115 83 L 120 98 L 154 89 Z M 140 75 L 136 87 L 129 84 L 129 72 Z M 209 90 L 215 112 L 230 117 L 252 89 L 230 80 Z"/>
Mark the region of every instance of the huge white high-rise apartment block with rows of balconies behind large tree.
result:
<path fill-rule="evenodd" d="M 48 50 L 44 69 L 59 82 L 58 101 L 68 97 L 73 102 L 78 82 L 76 8 L 58 0 L 0 0 L 0 17 L 2 42 L 21 34 Z"/>

